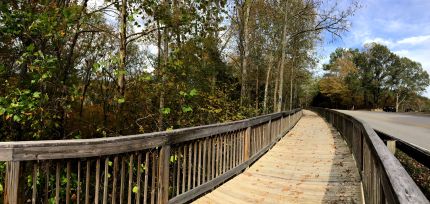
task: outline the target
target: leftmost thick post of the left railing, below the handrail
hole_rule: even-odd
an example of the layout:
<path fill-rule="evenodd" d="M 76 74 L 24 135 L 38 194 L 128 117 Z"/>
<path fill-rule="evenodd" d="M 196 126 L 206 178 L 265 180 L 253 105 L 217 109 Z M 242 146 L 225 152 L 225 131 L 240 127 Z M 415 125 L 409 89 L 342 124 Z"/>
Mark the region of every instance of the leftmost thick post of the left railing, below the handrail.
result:
<path fill-rule="evenodd" d="M 4 195 L 5 204 L 18 203 L 19 195 L 19 161 L 6 162 L 6 194 Z"/>

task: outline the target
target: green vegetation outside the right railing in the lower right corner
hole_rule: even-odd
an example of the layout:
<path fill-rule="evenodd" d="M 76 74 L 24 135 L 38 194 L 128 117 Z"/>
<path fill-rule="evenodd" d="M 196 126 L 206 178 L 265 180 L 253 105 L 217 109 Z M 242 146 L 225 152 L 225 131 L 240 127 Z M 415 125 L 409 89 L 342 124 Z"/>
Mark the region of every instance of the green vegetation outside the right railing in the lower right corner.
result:
<path fill-rule="evenodd" d="M 398 149 L 396 150 L 395 156 L 403 167 L 405 167 L 406 171 L 427 199 L 430 200 L 430 169 Z"/>

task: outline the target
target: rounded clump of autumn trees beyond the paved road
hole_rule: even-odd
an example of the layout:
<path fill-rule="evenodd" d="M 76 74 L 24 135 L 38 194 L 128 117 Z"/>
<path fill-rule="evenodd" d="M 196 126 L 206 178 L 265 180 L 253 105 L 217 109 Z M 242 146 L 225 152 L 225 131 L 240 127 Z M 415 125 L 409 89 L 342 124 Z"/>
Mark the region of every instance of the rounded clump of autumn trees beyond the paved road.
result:
<path fill-rule="evenodd" d="M 328 73 L 319 82 L 321 95 L 314 100 L 314 105 L 333 108 L 409 107 L 403 103 L 416 98 L 430 84 L 429 75 L 421 64 L 399 57 L 379 44 L 366 45 L 362 51 L 337 49 L 324 69 Z"/>

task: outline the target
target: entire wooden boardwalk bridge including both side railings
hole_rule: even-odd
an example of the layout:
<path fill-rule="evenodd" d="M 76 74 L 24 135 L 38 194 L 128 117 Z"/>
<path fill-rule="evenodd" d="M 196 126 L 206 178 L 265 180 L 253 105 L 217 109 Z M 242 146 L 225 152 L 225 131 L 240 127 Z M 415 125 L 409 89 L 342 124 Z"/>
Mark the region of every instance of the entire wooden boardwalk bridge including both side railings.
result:
<path fill-rule="evenodd" d="M 2 142 L 1 200 L 428 203 L 368 125 L 314 111 L 334 128 L 296 109 L 141 135 Z"/>

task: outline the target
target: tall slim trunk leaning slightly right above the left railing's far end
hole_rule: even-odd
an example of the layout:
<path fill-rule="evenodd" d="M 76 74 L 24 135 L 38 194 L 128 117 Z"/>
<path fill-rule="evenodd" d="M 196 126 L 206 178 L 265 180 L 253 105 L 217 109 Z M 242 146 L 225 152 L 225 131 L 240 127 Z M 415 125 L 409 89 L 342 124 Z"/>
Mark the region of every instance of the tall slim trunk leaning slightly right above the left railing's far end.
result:
<path fill-rule="evenodd" d="M 282 25 L 282 36 L 281 36 L 281 63 L 279 67 L 279 90 L 278 90 L 278 105 L 277 112 L 282 111 L 282 95 L 284 91 L 284 69 L 285 69 L 285 51 L 287 48 L 287 1 L 284 5 L 284 21 Z"/>

